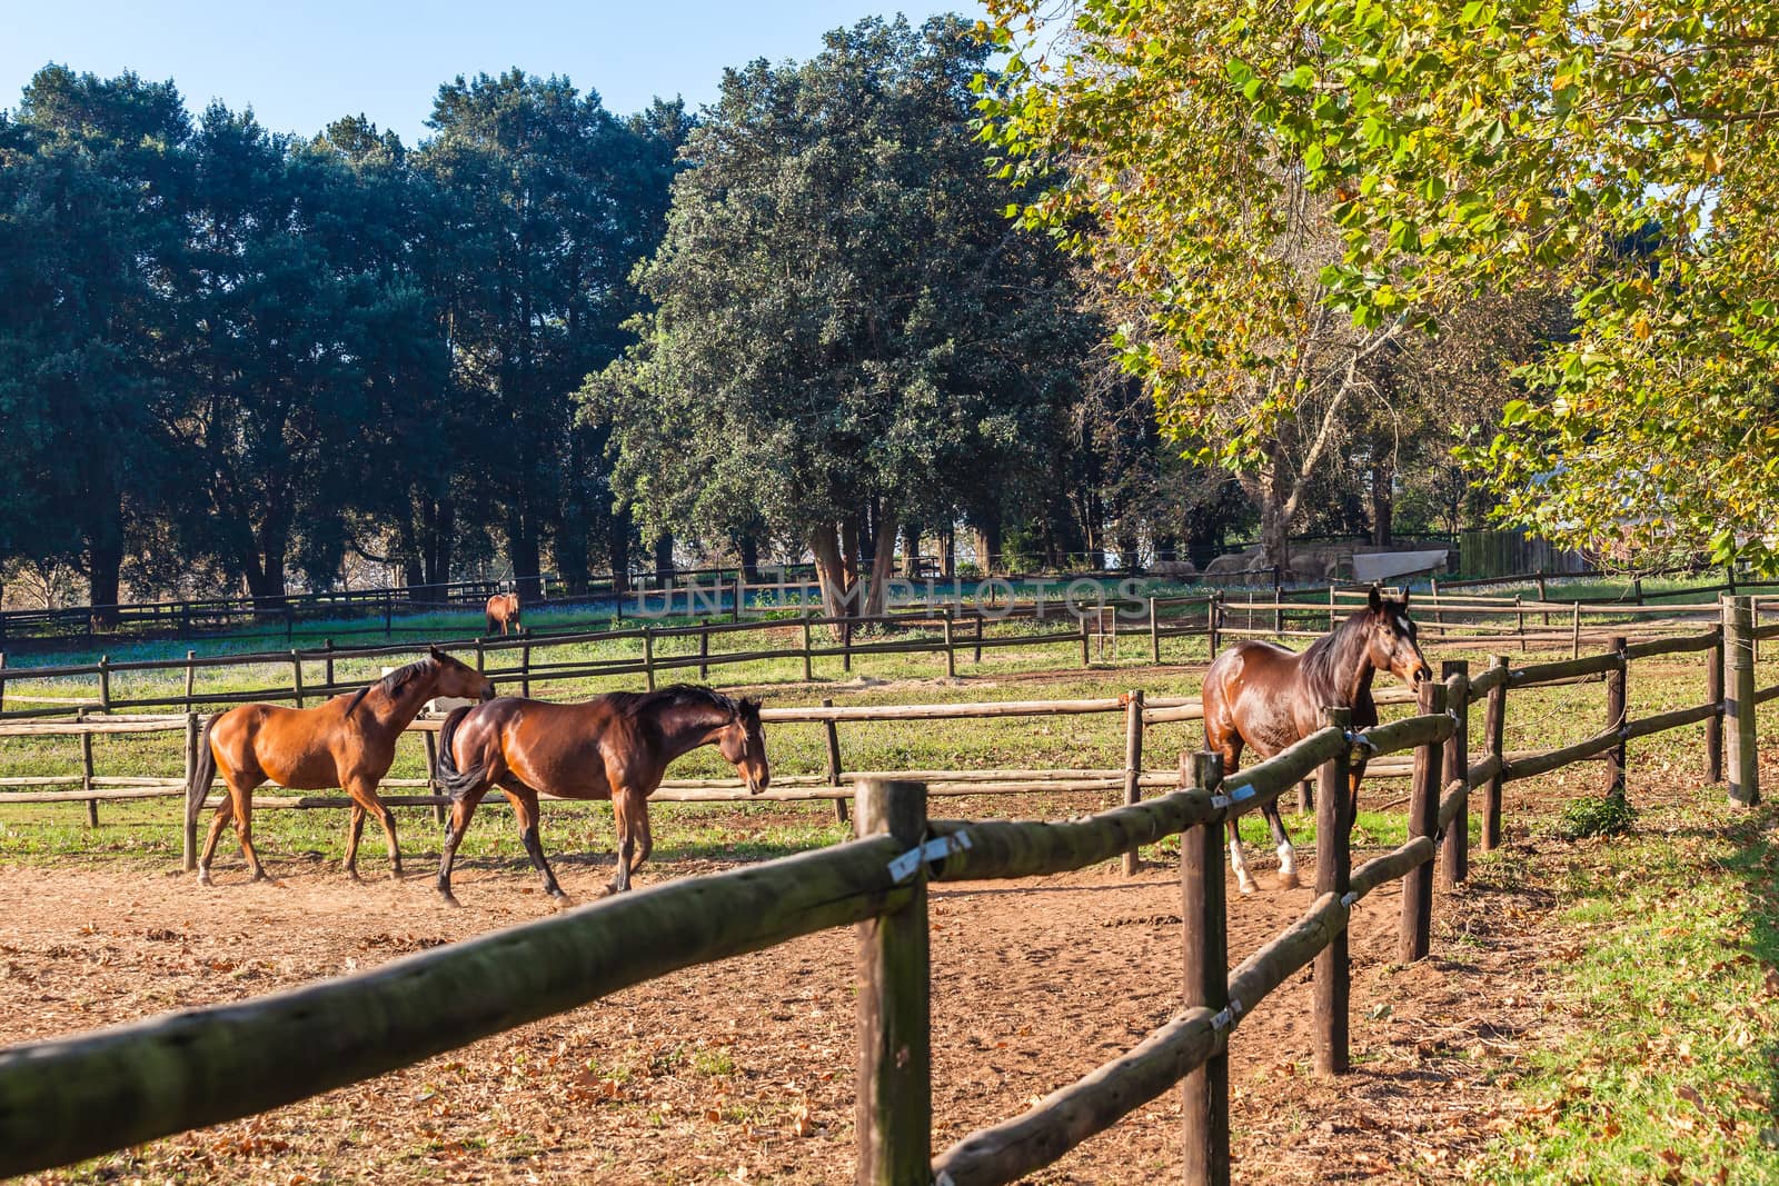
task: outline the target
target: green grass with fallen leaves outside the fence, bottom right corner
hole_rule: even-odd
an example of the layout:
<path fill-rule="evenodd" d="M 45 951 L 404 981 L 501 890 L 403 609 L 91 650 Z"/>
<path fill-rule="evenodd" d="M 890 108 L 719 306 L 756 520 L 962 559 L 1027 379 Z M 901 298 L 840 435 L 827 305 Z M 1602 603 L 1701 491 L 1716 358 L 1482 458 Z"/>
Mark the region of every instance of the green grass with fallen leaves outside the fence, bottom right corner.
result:
<path fill-rule="evenodd" d="M 1562 857 L 1574 1026 L 1528 1054 L 1493 1182 L 1779 1182 L 1779 848 L 1772 807 L 1706 788 Z"/>

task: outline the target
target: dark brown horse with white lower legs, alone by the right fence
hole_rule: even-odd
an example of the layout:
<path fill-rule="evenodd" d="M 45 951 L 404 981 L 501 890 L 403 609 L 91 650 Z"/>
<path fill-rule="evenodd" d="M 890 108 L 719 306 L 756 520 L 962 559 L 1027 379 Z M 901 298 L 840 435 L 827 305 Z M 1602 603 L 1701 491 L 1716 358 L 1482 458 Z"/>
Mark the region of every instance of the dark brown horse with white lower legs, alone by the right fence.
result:
<path fill-rule="evenodd" d="M 1302 654 L 1258 640 L 1238 642 L 1219 654 L 1204 672 L 1204 745 L 1222 754 L 1229 775 L 1242 761 L 1244 745 L 1272 757 L 1320 729 L 1324 708 L 1350 708 L 1352 727 L 1370 729 L 1377 724 L 1372 676 L 1379 670 L 1414 688 L 1432 679 L 1409 621 L 1409 596 L 1386 601 L 1373 585 L 1364 610 L 1311 642 Z M 1364 754 L 1356 754 L 1347 827 L 1359 811 L 1361 777 Z M 1279 885 L 1297 885 L 1297 857 L 1277 800 L 1267 800 L 1260 811 L 1279 845 Z M 1229 864 L 1242 893 L 1251 894 L 1254 878 L 1242 859 L 1235 816 L 1228 827 Z"/>

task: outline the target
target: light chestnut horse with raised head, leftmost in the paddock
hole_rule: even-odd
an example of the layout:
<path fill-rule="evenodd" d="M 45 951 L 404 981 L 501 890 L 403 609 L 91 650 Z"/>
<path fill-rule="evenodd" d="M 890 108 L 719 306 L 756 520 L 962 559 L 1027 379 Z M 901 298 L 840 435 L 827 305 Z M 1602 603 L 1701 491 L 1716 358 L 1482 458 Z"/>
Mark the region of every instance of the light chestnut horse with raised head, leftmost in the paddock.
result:
<path fill-rule="evenodd" d="M 210 782 L 221 770 L 228 798 L 210 821 L 210 836 L 197 859 L 199 884 L 210 884 L 210 857 L 229 820 L 235 821 L 240 852 L 253 868 L 253 880 L 265 878 L 260 855 L 253 850 L 253 789 L 267 779 L 304 791 L 343 788 L 352 797 L 345 841 L 347 877 L 358 880 L 358 837 L 365 830 L 365 813 L 375 814 L 382 823 L 382 834 L 390 839 L 391 877 L 400 877 L 395 818 L 377 798 L 377 782 L 395 761 L 395 740 L 434 695 L 489 701 L 495 685 L 473 667 L 431 647 L 427 658 L 315 708 L 242 704 L 212 717 L 205 725 L 187 793 L 208 795 Z"/>

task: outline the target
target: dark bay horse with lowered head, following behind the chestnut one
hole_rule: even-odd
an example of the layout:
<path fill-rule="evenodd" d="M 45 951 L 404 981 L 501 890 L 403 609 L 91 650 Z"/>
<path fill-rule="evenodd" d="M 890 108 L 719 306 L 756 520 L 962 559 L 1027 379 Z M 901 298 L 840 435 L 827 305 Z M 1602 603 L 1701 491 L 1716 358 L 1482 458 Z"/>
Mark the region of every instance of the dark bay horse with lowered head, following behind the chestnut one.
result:
<path fill-rule="evenodd" d="M 753 795 L 772 782 L 756 701 L 733 701 L 696 685 L 660 692 L 612 692 L 582 704 L 500 697 L 459 708 L 439 733 L 438 782 L 452 797 L 439 894 L 452 905 L 450 868 L 470 816 L 491 786 L 505 791 L 519 841 L 559 902 L 568 894 L 537 841 L 537 793 L 610 798 L 617 816 L 617 875 L 607 893 L 630 889 L 630 875 L 649 859 L 649 795 L 672 759 L 715 745 Z"/>

